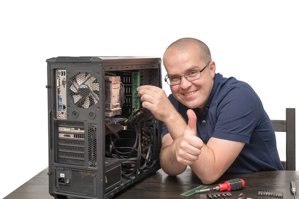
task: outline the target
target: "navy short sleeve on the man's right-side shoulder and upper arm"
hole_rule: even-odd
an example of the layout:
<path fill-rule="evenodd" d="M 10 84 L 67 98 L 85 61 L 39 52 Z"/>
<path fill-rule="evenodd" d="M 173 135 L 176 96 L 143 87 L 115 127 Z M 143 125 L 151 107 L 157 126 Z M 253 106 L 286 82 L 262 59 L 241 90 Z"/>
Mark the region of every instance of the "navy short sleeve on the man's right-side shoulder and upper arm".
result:
<path fill-rule="evenodd" d="M 262 103 L 246 85 L 227 92 L 217 109 L 213 137 L 249 143 L 250 136 L 262 114 Z"/>

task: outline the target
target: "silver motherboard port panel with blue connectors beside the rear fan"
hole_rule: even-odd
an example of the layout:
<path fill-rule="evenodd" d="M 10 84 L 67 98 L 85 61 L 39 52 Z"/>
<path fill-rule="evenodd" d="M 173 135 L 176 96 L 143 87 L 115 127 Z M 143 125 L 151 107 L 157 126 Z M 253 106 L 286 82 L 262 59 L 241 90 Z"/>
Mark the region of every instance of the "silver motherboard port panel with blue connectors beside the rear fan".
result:
<path fill-rule="evenodd" d="M 56 70 L 56 117 L 66 119 L 66 70 Z"/>

